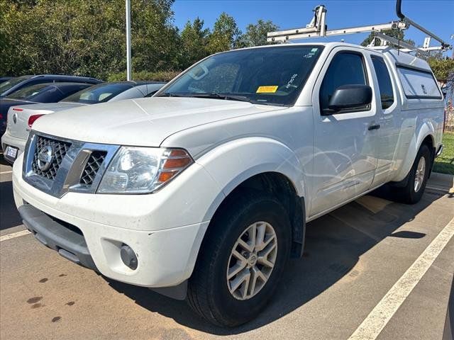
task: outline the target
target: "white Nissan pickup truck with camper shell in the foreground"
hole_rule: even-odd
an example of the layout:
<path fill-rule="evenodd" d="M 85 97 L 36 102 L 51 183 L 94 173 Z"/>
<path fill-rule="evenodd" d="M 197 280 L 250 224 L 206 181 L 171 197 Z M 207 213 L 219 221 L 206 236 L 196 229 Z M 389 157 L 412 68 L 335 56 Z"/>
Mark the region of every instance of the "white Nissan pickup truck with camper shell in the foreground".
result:
<path fill-rule="evenodd" d="M 13 165 L 14 198 L 65 258 L 234 326 L 301 256 L 306 222 L 384 184 L 420 200 L 443 108 L 428 64 L 402 51 L 222 52 L 153 98 L 37 120 Z"/>

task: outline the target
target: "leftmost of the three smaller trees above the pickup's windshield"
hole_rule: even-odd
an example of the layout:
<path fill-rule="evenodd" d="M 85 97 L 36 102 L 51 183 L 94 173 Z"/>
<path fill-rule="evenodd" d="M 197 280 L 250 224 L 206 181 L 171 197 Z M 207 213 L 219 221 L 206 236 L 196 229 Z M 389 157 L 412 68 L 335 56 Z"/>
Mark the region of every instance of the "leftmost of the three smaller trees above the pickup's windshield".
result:
<path fill-rule="evenodd" d="M 188 21 L 184 26 L 181 39 L 182 39 L 182 58 L 180 65 L 183 69 L 194 64 L 207 55 L 208 37 L 210 30 L 204 28 L 204 21 L 196 18 L 193 23 Z"/>

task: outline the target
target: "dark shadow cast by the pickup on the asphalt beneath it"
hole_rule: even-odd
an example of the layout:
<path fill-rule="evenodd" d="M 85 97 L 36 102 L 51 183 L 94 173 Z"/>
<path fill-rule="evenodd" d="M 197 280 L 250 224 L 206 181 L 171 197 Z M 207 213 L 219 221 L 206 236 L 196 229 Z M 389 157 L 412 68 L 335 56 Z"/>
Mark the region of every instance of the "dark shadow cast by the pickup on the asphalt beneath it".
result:
<path fill-rule="evenodd" d="M 362 274 L 361 266 L 356 266 L 360 256 L 386 237 L 425 237 L 419 232 L 395 230 L 413 220 L 443 193 L 426 190 L 416 205 L 392 203 L 386 200 L 387 195 L 383 191 L 373 193 L 310 222 L 303 258 L 289 261 L 270 304 L 256 319 L 240 327 L 214 327 L 192 312 L 184 301 L 172 300 L 147 288 L 106 280 L 138 305 L 175 319 L 185 327 L 216 335 L 241 334 L 284 317 L 339 280 L 348 283 L 358 278 Z"/>

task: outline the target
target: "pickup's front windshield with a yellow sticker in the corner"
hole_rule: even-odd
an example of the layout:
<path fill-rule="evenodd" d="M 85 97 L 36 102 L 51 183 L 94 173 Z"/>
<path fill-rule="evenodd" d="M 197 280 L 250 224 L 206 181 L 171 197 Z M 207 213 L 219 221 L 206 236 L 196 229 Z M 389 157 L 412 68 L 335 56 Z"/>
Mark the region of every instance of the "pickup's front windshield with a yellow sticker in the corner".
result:
<path fill-rule="evenodd" d="M 292 106 L 322 50 L 298 45 L 223 52 L 191 67 L 158 96 Z"/>

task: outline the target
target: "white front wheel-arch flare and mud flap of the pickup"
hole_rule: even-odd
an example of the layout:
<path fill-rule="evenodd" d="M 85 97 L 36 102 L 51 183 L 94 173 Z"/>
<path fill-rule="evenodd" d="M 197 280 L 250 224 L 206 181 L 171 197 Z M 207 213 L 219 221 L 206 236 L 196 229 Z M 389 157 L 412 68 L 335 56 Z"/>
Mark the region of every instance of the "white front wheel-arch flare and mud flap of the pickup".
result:
<path fill-rule="evenodd" d="M 302 255 L 309 200 L 304 199 L 304 184 L 307 183 L 304 168 L 292 149 L 268 137 L 244 137 L 211 149 L 196 163 L 204 167 L 221 191 L 207 210 L 204 220 L 211 220 L 224 198 L 244 181 L 258 174 L 282 174 L 298 196 L 295 205 L 290 207 L 289 218 L 293 235 L 292 257 Z M 301 213 L 294 209 L 301 210 Z"/>

